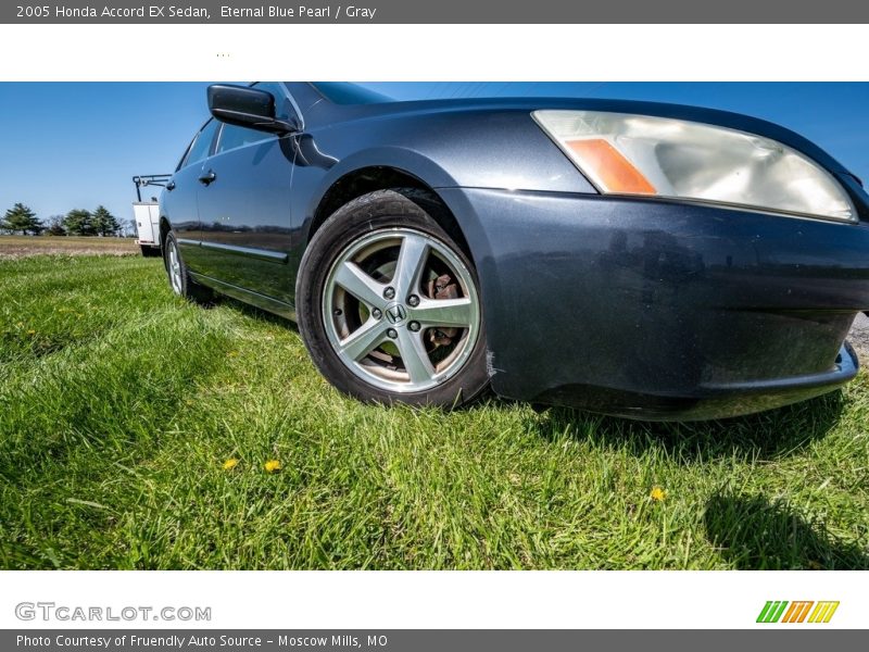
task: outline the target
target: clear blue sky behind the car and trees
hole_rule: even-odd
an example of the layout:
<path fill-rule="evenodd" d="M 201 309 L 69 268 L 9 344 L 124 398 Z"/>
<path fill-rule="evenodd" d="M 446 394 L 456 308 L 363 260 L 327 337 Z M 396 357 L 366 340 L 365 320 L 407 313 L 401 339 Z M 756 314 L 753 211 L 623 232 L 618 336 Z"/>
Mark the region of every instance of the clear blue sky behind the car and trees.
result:
<path fill-rule="evenodd" d="M 102 203 L 131 217 L 136 174 L 172 172 L 206 117 L 206 83 L 0 83 L 0 212 Z M 794 129 L 869 180 L 869 84 L 377 83 L 396 99 L 532 96 L 650 100 L 746 113 Z"/>

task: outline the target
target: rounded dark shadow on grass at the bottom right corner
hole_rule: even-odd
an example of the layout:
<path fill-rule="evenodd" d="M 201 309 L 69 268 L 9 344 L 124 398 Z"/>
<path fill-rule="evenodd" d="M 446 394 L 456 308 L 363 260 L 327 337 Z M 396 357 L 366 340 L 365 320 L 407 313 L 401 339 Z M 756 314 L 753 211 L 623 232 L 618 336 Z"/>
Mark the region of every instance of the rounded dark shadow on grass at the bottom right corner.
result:
<path fill-rule="evenodd" d="M 706 503 L 704 521 L 709 543 L 739 569 L 869 569 L 866 550 L 763 496 L 718 493 Z"/>

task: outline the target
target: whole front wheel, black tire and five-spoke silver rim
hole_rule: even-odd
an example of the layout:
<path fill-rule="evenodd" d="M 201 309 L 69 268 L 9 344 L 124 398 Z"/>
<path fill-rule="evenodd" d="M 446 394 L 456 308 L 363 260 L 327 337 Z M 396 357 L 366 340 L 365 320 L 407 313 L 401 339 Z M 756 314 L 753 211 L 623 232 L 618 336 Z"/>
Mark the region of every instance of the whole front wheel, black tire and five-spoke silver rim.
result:
<path fill-rule="evenodd" d="M 418 190 L 379 190 L 316 233 L 297 288 L 299 325 L 338 389 L 366 401 L 453 406 L 489 384 L 474 266 Z"/>

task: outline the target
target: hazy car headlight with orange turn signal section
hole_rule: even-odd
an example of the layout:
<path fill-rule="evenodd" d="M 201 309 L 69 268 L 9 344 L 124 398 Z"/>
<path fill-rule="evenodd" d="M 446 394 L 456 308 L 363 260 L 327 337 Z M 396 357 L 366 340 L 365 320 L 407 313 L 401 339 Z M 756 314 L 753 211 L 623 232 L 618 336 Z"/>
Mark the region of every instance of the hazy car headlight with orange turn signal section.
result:
<path fill-rule="evenodd" d="M 829 172 L 763 136 L 627 113 L 536 111 L 532 115 L 603 193 L 857 220 L 851 198 Z"/>

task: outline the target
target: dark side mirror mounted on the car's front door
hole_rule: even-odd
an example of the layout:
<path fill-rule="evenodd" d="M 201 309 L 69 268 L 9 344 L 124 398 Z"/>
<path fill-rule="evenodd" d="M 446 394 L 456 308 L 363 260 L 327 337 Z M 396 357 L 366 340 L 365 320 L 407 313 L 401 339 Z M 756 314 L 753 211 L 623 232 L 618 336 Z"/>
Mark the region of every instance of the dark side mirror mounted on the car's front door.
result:
<path fill-rule="evenodd" d="M 249 86 L 213 84 L 209 86 L 209 111 L 218 121 L 269 134 L 299 130 L 295 121 L 275 117 L 275 97 Z"/>

